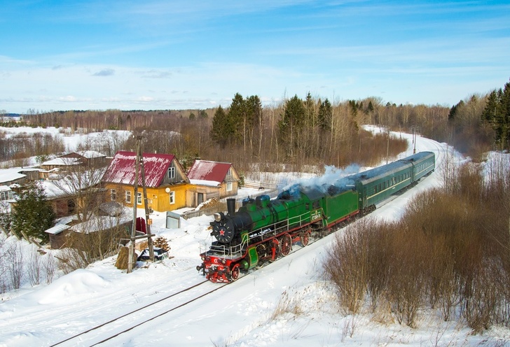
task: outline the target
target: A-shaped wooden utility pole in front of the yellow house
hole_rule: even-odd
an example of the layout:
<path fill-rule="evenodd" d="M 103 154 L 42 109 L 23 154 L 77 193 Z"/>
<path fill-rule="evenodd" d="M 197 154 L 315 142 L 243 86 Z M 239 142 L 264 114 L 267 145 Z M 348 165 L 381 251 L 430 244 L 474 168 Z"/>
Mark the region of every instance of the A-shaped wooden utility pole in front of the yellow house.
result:
<path fill-rule="evenodd" d="M 145 169 L 144 169 L 144 158 L 142 155 L 142 136 L 137 136 L 137 159 L 135 162 L 135 196 L 133 197 L 133 224 L 131 228 L 131 239 L 130 239 L 130 249 L 129 254 L 127 255 L 127 274 L 130 274 L 133 269 L 133 264 L 135 264 L 135 260 L 133 259 L 133 254 L 135 253 L 135 241 L 141 238 L 147 238 L 147 243 L 149 246 L 149 257 L 151 262 L 154 261 L 154 247 L 152 243 L 152 235 L 151 234 L 151 222 L 149 222 L 149 206 L 147 204 L 147 190 L 145 186 Z M 142 192 L 144 195 L 144 205 L 145 205 L 145 223 L 146 223 L 146 234 L 143 236 L 136 236 L 137 232 L 137 203 L 138 203 L 138 178 L 140 172 L 140 164 L 142 164 Z"/>

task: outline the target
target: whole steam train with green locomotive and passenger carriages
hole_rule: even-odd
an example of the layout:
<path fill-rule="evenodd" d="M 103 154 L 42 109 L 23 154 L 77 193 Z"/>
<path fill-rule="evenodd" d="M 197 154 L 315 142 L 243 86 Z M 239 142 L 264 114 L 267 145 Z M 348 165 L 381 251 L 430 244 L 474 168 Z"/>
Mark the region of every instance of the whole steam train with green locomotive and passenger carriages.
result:
<path fill-rule="evenodd" d="M 328 185 L 292 185 L 273 200 L 268 195 L 246 199 L 237 212 L 235 199 L 228 199 L 228 214 L 214 214 L 216 241 L 200 254 L 197 269 L 212 282 L 235 281 L 240 271 L 288 255 L 293 243 L 307 246 L 310 237 L 373 211 L 434 169 L 434 153 L 421 152 Z"/>

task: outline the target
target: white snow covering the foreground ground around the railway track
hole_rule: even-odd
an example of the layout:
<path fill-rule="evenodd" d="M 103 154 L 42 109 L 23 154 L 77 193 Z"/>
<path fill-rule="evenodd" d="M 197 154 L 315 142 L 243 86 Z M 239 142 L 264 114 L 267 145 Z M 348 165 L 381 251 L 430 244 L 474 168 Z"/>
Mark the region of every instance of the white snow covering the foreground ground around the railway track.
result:
<path fill-rule="evenodd" d="M 411 135 L 401 136 L 409 139 L 410 146 L 397 159 L 413 154 Z M 447 153 L 455 155 L 457 161 L 465 160 L 445 143 L 418 136 L 416 151 L 423 150 L 436 154 L 435 173 L 380 206 L 371 218 L 399 219 L 415 194 L 440 185 Z M 240 189 L 241 196 L 258 192 Z M 140 210 L 138 215 L 144 212 Z M 203 281 L 195 267 L 201 263 L 200 246 L 212 241 L 207 230 L 212 216 L 181 219 L 179 229 L 165 229 L 165 213 L 153 213 L 151 218 L 151 232 L 169 240 L 172 258 L 139 262 L 135 271 L 126 274 L 114 266 L 116 257 L 109 257 L 60 276 L 49 285 L 32 288 L 27 283 L 20 290 L 5 293 L 0 304 L 0 346 L 52 346 L 137 309 L 135 315 L 95 330 L 91 336 L 58 346 L 91 346 L 131 327 L 99 345 L 418 347 L 506 346 L 510 341 L 509 329 L 493 327 L 483 336 L 473 336 L 462 322 L 444 322 L 427 313 L 420 316 L 418 327 L 411 329 L 387 319 L 380 323 L 384 313 L 352 316 L 343 312 L 336 304 L 335 291 L 321 277 L 321 263 L 334 234 L 305 248 L 294 246 L 287 257 L 235 283 L 224 287 L 205 283 L 141 309 Z M 195 299 L 210 290 L 215 291 Z M 165 314 L 158 316 L 160 313 Z"/>

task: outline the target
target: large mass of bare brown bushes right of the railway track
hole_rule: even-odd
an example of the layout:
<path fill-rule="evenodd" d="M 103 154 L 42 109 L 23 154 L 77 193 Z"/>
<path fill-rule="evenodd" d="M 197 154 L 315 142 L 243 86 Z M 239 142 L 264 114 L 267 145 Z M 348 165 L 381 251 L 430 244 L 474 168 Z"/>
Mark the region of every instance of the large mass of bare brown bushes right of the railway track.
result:
<path fill-rule="evenodd" d="M 390 307 L 410 327 L 427 307 L 444 320 L 464 318 L 474 333 L 508 325 L 510 190 L 502 168 L 490 184 L 471 164 L 455 168 L 455 184 L 418 194 L 401 221 L 347 228 L 324 262 L 340 304 L 355 313 L 368 294 L 375 317 Z"/>

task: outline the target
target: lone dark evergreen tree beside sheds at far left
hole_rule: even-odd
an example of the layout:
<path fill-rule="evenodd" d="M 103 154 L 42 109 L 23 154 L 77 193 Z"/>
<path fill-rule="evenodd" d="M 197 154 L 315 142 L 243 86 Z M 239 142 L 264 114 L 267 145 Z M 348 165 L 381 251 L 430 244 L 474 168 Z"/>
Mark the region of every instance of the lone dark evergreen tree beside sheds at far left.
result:
<path fill-rule="evenodd" d="M 43 187 L 32 183 L 23 188 L 16 197 L 12 212 L 11 231 L 21 237 L 23 233 L 29 237 L 48 241 L 46 229 L 55 225 L 55 212 L 46 201 Z"/>

